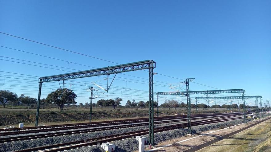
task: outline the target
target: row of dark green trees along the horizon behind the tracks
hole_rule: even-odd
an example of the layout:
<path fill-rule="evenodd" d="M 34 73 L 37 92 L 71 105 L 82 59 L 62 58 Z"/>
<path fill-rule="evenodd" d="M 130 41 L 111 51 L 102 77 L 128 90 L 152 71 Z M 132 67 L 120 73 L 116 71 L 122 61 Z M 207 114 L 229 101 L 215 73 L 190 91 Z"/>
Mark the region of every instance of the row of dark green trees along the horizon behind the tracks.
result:
<path fill-rule="evenodd" d="M 75 101 L 77 95 L 70 89 L 64 88 L 64 89 L 56 89 L 55 91 L 48 94 L 46 99 L 41 99 L 41 103 L 43 104 L 56 104 L 60 107 L 60 110 L 63 110 L 63 108 L 68 108 L 71 104 L 77 104 Z M 126 105 L 122 106 L 120 105 L 121 101 L 123 101 L 121 98 L 117 97 L 116 99 L 100 99 L 97 101 L 97 103 L 92 103 L 92 106 L 99 106 L 99 107 L 105 107 L 105 106 L 112 106 L 113 109 L 115 107 L 149 107 L 149 101 L 139 101 L 136 102 L 134 99 L 132 101 L 127 100 Z M 25 96 L 24 94 L 21 94 L 20 96 L 17 96 L 16 93 L 7 91 L 7 90 L 0 90 L 0 102 L 2 103 L 3 107 L 5 108 L 6 104 L 13 103 L 14 105 L 31 105 L 31 107 L 34 107 L 34 104 L 37 104 L 36 98 L 31 98 L 30 96 Z M 83 103 L 79 103 L 79 106 L 83 107 Z M 157 107 L 157 102 L 153 102 L 153 106 Z M 87 102 L 85 103 L 85 107 L 90 107 L 90 104 Z M 163 104 L 161 104 L 159 107 L 164 108 L 186 108 L 187 104 L 183 102 L 179 102 L 177 100 L 166 100 Z M 238 108 L 237 104 L 227 105 L 223 104 L 220 105 L 212 105 L 211 107 L 209 105 L 206 105 L 204 103 L 197 104 L 198 108 Z M 244 105 L 240 104 L 240 108 L 243 108 Z M 191 104 L 191 108 L 196 108 L 195 104 Z M 256 108 L 256 106 L 245 106 L 245 108 Z"/>

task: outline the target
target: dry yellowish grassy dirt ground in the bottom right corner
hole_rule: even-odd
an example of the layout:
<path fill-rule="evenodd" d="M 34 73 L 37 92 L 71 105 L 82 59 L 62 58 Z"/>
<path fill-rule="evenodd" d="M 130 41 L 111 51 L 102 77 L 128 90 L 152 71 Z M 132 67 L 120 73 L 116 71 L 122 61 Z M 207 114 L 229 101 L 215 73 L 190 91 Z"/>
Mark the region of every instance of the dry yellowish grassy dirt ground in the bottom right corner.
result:
<path fill-rule="evenodd" d="M 270 152 L 271 119 L 216 142 L 197 152 Z"/>

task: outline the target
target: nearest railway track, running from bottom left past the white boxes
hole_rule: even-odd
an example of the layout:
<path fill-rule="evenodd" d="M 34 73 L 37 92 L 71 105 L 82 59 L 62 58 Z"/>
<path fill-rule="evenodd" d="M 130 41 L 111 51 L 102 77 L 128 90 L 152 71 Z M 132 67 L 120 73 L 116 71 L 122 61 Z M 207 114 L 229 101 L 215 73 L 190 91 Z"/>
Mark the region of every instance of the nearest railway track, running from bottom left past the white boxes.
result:
<path fill-rule="evenodd" d="M 247 116 L 247 118 L 249 117 L 252 117 L 252 116 Z M 243 116 L 237 116 L 235 118 L 232 118 L 232 116 L 228 116 L 228 117 L 226 116 L 224 118 L 196 121 L 196 122 L 191 122 L 191 126 L 219 123 L 219 122 L 225 122 L 225 121 L 237 120 L 237 119 L 243 119 Z M 170 131 L 170 130 L 175 130 L 175 129 L 184 128 L 184 127 L 187 127 L 187 123 L 170 125 L 170 126 L 165 126 L 165 127 L 157 127 L 154 129 L 154 133 Z M 121 134 L 113 134 L 113 135 L 103 136 L 103 137 L 98 137 L 98 138 L 90 138 L 90 139 L 79 140 L 79 141 L 74 141 L 74 142 L 66 142 L 66 143 L 61 143 L 61 144 L 48 145 L 48 146 L 30 148 L 30 149 L 25 149 L 25 150 L 17 150 L 16 152 L 31 152 L 31 151 L 57 152 L 57 151 L 71 150 L 71 149 L 75 149 L 75 148 L 79 148 L 83 146 L 96 145 L 97 143 L 101 143 L 101 142 L 111 142 L 111 141 L 116 141 L 119 139 L 132 138 L 133 136 L 147 135 L 148 131 L 149 130 L 146 129 L 146 130 L 141 130 L 141 131 L 132 131 L 132 132 L 126 132 L 126 133 L 121 133 Z"/>

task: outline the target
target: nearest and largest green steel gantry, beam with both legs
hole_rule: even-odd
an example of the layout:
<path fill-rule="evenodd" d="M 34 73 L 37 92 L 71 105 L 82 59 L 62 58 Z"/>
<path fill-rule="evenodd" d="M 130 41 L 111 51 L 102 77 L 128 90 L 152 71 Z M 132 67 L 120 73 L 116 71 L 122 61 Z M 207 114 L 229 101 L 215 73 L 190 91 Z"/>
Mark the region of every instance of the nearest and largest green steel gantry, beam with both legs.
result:
<path fill-rule="evenodd" d="M 39 89 L 38 89 L 38 103 L 37 103 L 37 112 L 36 112 L 36 122 L 35 126 L 38 126 L 38 115 L 39 115 L 39 105 L 40 105 L 40 95 L 42 89 L 42 83 L 51 82 L 51 81 L 60 81 L 60 80 L 69 80 L 77 78 L 85 78 L 91 76 L 102 76 L 117 74 L 121 72 L 129 72 L 136 70 L 148 69 L 149 74 L 149 136 L 150 144 L 154 145 L 154 133 L 153 133 L 153 69 L 156 67 L 156 62 L 153 60 L 145 60 L 140 62 L 133 62 L 128 64 L 115 65 L 105 68 L 96 68 L 86 71 L 71 72 L 66 74 L 59 74 L 54 76 L 45 76 L 39 78 Z M 108 86 L 108 84 L 107 84 Z M 108 90 L 108 88 L 107 88 Z M 91 105 L 92 106 L 92 105 Z"/>

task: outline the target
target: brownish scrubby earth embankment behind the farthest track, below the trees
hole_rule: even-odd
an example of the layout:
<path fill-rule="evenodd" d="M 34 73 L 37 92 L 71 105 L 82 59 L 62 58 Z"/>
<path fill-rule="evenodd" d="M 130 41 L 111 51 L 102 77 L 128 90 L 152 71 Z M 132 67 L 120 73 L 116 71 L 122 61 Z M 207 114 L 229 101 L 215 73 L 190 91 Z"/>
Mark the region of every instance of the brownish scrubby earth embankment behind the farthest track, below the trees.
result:
<path fill-rule="evenodd" d="M 161 112 L 160 116 L 179 114 L 174 111 Z M 92 113 L 93 120 L 122 119 L 148 117 L 148 111 L 95 111 Z M 155 114 L 156 115 L 156 114 Z M 0 115 L 0 126 L 10 126 L 18 123 L 34 123 L 35 111 L 2 112 Z M 41 111 L 39 123 L 49 122 L 77 122 L 89 120 L 88 111 Z"/>

